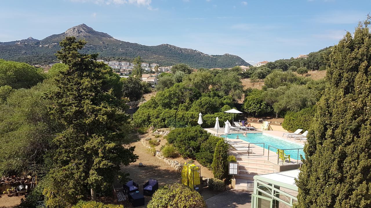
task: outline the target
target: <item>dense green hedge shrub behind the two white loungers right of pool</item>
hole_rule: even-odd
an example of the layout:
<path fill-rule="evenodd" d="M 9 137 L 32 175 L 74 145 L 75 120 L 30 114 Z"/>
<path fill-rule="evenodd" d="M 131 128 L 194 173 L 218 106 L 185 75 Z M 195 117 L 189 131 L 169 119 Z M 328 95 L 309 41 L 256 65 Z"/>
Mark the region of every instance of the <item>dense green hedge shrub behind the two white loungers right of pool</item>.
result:
<path fill-rule="evenodd" d="M 315 106 L 312 108 L 304 108 L 299 112 L 288 112 L 283 119 L 282 128 L 287 131 L 296 131 L 298 128 L 309 130 L 313 121 Z"/>

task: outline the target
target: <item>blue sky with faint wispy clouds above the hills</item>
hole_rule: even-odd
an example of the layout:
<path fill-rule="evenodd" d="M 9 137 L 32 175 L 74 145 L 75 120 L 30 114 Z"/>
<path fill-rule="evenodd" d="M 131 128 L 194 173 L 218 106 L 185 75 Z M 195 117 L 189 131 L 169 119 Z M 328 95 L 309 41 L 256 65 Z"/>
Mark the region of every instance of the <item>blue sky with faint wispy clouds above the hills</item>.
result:
<path fill-rule="evenodd" d="M 332 46 L 370 12 L 370 0 L 3 0 L 0 41 L 41 40 L 85 23 L 123 41 L 254 64 Z"/>

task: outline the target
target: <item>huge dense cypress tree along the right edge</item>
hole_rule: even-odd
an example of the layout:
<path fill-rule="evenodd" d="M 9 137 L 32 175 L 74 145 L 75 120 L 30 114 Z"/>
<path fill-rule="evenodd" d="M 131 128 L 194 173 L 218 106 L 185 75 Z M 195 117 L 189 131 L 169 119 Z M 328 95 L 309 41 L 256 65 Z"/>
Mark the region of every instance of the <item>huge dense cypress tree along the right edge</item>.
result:
<path fill-rule="evenodd" d="M 296 208 L 371 207 L 370 16 L 330 55 L 296 184 Z"/>

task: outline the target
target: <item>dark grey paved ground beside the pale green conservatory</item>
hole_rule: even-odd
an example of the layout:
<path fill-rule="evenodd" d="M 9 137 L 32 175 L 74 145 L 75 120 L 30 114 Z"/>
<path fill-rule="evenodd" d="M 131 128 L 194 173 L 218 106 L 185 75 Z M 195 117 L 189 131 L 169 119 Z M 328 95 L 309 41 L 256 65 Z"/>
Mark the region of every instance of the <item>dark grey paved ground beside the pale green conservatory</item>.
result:
<path fill-rule="evenodd" d="M 251 194 L 251 191 L 230 189 L 206 199 L 206 205 L 208 208 L 250 208 Z"/>

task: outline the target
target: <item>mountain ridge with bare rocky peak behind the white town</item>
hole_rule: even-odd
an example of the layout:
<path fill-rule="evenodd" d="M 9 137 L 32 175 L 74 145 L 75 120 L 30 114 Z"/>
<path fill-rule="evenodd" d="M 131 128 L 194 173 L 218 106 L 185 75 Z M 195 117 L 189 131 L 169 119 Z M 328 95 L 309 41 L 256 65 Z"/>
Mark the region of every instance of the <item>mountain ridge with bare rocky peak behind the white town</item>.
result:
<path fill-rule="evenodd" d="M 145 46 L 115 39 L 107 33 L 95 31 L 86 24 L 69 28 L 63 33 L 53 34 L 42 40 L 32 37 L 23 40 L 0 42 L 0 58 L 22 61 L 31 64 L 56 61 L 55 53 L 60 49 L 59 41 L 66 36 L 85 39 L 87 44 L 82 53 L 99 53 L 99 58 L 130 61 L 141 56 L 143 61 L 158 63 L 162 66 L 186 63 L 191 67 L 233 67 L 250 66 L 242 58 L 232 54 L 209 55 L 191 48 L 180 48 L 171 44 Z"/>

